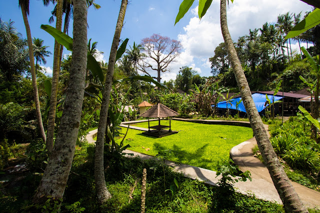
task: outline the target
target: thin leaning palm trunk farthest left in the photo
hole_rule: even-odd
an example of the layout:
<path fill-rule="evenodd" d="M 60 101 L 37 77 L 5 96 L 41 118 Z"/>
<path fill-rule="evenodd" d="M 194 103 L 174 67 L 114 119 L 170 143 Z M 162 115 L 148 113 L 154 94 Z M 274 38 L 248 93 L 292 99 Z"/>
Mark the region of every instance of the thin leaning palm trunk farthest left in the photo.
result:
<path fill-rule="evenodd" d="M 35 68 L 34 68 L 34 57 L 33 57 L 33 45 L 32 45 L 32 38 L 31 38 L 31 31 L 30 31 L 30 26 L 29 26 L 29 22 L 28 22 L 28 18 L 27 18 L 27 15 L 26 15 L 26 11 L 25 11 L 24 5 L 21 4 L 20 6 L 21 6 L 21 12 L 22 12 L 24 25 L 25 25 L 26 37 L 27 37 L 28 48 L 29 48 L 30 72 L 31 72 L 31 78 L 32 78 L 32 87 L 33 87 L 33 95 L 34 95 L 34 103 L 35 103 L 36 120 L 37 120 L 38 125 L 39 125 L 41 138 L 45 142 L 46 137 L 45 137 L 45 132 L 44 132 L 43 123 L 42 123 L 42 117 L 41 117 L 38 87 L 37 87 L 37 84 L 36 84 L 36 74 L 35 74 Z"/>

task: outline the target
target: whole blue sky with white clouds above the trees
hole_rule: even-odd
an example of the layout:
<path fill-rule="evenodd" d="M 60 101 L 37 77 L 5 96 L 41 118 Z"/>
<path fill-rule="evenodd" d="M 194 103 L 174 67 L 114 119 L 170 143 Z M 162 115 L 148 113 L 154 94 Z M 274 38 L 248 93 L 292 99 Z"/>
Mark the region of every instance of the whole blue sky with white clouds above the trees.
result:
<path fill-rule="evenodd" d="M 113 38 L 115 23 L 120 7 L 120 0 L 95 0 L 100 9 L 88 9 L 88 39 L 97 41 L 97 49 L 103 51 L 100 59 L 108 60 L 110 45 Z M 208 58 L 213 56 L 215 47 L 223 42 L 219 25 L 219 0 L 213 0 L 206 15 L 199 21 L 195 0 L 190 10 L 174 26 L 175 16 L 182 0 L 131 0 L 127 6 L 121 38 L 129 38 L 128 45 L 133 41 L 140 43 L 141 39 L 153 33 L 160 33 L 182 44 L 182 53 L 176 62 L 170 65 L 170 72 L 162 74 L 162 80 L 174 79 L 181 66 L 190 66 L 201 76 L 210 76 Z M 32 37 L 44 40 L 44 45 L 50 46 L 53 53 L 54 40 L 44 30 L 41 24 L 49 24 L 50 11 L 53 4 L 45 7 L 41 0 L 30 0 L 28 16 Z M 264 22 L 275 22 L 280 13 L 287 11 L 298 13 L 311 10 L 312 7 L 300 0 L 234 0 L 227 8 L 228 26 L 234 41 L 241 35 L 248 34 L 249 29 L 259 28 Z M 4 21 L 11 19 L 23 37 L 26 37 L 21 10 L 18 0 L 0 1 L 0 17 Z M 51 24 L 55 26 L 55 23 Z M 72 37 L 72 23 L 69 27 Z M 292 43 L 292 42 L 291 42 Z M 293 46 L 297 46 L 294 44 Z M 129 47 L 129 46 L 127 46 Z M 64 54 L 69 53 L 63 51 Z M 53 56 L 47 57 L 47 67 L 50 74 Z M 151 73 L 155 76 L 155 73 Z"/>

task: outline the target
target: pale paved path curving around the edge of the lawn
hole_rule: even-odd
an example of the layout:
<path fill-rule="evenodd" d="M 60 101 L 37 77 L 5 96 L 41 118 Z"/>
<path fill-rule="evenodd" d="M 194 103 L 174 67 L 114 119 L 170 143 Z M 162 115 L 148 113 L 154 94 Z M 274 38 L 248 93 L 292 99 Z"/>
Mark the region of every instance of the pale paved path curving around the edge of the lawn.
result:
<path fill-rule="evenodd" d="M 189 119 L 181 119 L 174 118 L 176 120 L 183 120 L 189 122 L 200 122 L 200 123 L 214 123 L 214 124 L 231 124 L 231 125 L 241 125 L 241 126 L 249 126 L 249 122 L 246 121 L 227 121 L 227 120 L 189 120 Z M 145 120 L 139 120 L 139 122 L 143 122 Z M 123 127 L 127 127 L 129 123 L 135 123 L 137 121 L 128 121 L 122 122 L 120 125 Z M 135 128 L 138 130 L 147 130 L 147 128 L 141 128 L 137 126 L 130 126 L 130 128 Z M 265 125 L 267 130 L 267 125 Z M 93 137 L 96 135 L 96 129 L 90 131 L 86 135 L 86 139 L 88 142 L 93 143 Z M 254 194 L 255 197 L 268 200 L 275 201 L 278 203 L 282 203 L 281 199 L 273 185 L 271 177 L 267 168 L 264 166 L 260 160 L 252 155 L 251 148 L 256 144 L 256 140 L 254 137 L 234 146 L 230 150 L 230 157 L 233 161 L 239 166 L 240 170 L 245 171 L 249 170 L 251 172 L 252 181 L 238 181 L 235 183 L 235 188 L 238 192 L 244 194 Z M 139 152 L 125 150 L 125 153 L 133 153 L 134 156 L 140 156 L 142 159 L 150 159 L 153 156 L 142 154 Z M 187 164 L 176 164 L 172 161 L 166 160 L 166 164 L 172 166 L 176 171 L 183 172 L 183 174 L 192 179 L 198 179 L 204 181 L 208 184 L 215 185 L 218 181 L 219 176 L 216 177 L 216 172 L 212 170 L 208 170 L 205 168 L 195 167 Z M 296 192 L 301 198 L 303 204 L 307 207 L 318 208 L 320 209 L 320 192 L 307 188 L 303 185 L 300 185 L 296 182 L 291 182 L 294 186 Z"/>

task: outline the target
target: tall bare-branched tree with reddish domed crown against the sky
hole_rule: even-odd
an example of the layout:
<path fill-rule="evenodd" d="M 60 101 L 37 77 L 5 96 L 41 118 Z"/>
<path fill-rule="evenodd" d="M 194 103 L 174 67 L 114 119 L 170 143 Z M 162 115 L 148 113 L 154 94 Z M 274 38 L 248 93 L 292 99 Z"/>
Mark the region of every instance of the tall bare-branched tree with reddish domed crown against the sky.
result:
<path fill-rule="evenodd" d="M 161 72 L 169 70 L 168 65 L 180 54 L 182 46 L 179 41 L 160 34 L 143 38 L 141 44 L 146 58 L 139 63 L 140 70 L 149 76 L 148 69 L 155 70 L 156 79 L 160 82 Z"/>

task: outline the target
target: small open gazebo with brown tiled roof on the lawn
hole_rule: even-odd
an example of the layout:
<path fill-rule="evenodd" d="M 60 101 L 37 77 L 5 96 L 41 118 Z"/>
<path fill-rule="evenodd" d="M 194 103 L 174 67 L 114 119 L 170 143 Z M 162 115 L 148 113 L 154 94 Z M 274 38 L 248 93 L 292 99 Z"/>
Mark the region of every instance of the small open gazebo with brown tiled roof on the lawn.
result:
<path fill-rule="evenodd" d="M 162 103 L 154 104 L 151 108 L 140 114 L 141 117 L 147 117 L 148 118 L 148 130 L 145 132 L 142 132 L 146 135 L 151 135 L 155 137 L 162 137 L 170 134 L 177 133 L 177 131 L 171 130 L 171 117 L 178 115 L 176 111 L 170 109 L 169 107 L 163 105 Z M 150 126 L 149 118 L 150 117 L 156 117 L 158 118 L 158 125 Z M 162 117 L 169 117 L 169 125 L 161 125 L 160 124 L 160 118 Z M 150 130 L 152 128 L 153 130 Z M 166 130 L 165 128 L 169 128 Z"/>

